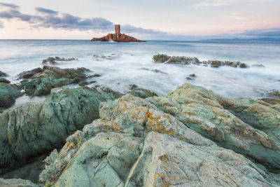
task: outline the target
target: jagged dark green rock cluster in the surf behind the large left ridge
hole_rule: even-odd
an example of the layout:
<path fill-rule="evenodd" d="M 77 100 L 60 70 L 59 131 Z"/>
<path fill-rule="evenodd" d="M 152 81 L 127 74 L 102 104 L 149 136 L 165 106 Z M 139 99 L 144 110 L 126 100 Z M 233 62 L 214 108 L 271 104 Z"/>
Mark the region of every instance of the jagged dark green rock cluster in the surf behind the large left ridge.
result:
<path fill-rule="evenodd" d="M 29 96 L 40 96 L 50 94 L 52 88 L 62 87 L 73 83 L 85 81 L 85 72 L 90 71 L 85 68 L 60 69 L 58 67 L 44 66 L 19 74 L 20 78 L 31 78 L 31 80 L 21 81 L 21 87 Z"/>

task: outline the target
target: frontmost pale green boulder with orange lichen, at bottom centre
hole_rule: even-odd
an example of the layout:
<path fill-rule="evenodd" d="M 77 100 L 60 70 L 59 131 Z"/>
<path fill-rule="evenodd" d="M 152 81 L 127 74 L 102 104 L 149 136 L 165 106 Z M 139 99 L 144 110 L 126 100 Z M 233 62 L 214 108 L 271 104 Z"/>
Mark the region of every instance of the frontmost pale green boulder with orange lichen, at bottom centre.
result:
<path fill-rule="evenodd" d="M 154 98 L 125 95 L 100 104 L 100 119 L 46 158 L 41 181 L 47 186 L 280 185 L 279 176 L 191 130 L 155 106 Z"/>

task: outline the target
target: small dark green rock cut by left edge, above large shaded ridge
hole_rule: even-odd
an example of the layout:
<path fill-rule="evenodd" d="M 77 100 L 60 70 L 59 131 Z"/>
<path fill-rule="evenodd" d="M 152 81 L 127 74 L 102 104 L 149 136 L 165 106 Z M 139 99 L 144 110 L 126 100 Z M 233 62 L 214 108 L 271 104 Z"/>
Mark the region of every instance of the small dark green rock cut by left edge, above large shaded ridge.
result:
<path fill-rule="evenodd" d="M 15 103 L 15 99 L 22 96 L 21 88 L 18 85 L 0 83 L 0 108 L 7 108 Z"/>

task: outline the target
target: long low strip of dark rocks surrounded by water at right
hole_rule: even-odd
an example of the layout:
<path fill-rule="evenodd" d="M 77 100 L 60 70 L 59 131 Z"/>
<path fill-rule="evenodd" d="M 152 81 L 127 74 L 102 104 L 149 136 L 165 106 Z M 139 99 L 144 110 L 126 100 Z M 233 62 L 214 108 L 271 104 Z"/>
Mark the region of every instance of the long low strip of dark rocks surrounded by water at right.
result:
<path fill-rule="evenodd" d="M 153 60 L 155 62 L 167 63 L 167 64 L 195 64 L 195 65 L 203 65 L 210 67 L 221 67 L 221 66 L 229 66 L 229 67 L 240 67 L 246 68 L 247 64 L 241 62 L 230 62 L 230 61 L 219 61 L 219 60 L 208 60 L 201 62 L 197 59 L 197 57 L 171 57 L 168 55 L 153 55 Z"/>

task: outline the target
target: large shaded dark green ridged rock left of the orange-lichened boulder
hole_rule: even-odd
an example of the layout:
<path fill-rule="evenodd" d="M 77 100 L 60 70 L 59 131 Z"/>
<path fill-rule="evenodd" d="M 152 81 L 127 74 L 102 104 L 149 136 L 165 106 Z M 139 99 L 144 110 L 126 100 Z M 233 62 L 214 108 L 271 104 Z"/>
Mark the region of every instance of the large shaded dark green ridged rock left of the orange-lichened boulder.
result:
<path fill-rule="evenodd" d="M 116 99 L 90 88 L 55 88 L 45 102 L 25 103 L 0 114 L 0 173 L 64 144 L 99 118 L 99 103 Z"/>

